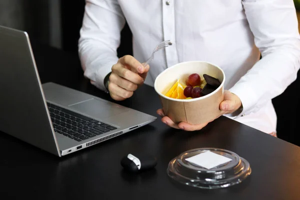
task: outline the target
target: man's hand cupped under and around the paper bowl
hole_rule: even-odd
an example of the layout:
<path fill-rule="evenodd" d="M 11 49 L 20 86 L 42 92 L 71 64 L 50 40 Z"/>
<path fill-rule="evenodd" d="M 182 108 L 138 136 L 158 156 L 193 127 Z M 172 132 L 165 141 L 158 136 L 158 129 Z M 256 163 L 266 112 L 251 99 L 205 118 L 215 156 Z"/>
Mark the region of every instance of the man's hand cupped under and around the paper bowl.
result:
<path fill-rule="evenodd" d="M 221 116 L 223 114 L 232 113 L 232 112 L 236 111 L 240 106 L 241 106 L 241 101 L 240 101 L 239 97 L 237 95 L 231 93 L 228 90 L 224 90 L 224 100 L 219 105 L 219 109 L 221 110 L 221 114 L 219 116 Z M 199 130 L 199 129 L 203 128 L 205 125 L 207 125 L 207 123 L 212 121 L 211 120 L 211 121 L 207 121 L 205 123 L 200 123 L 200 124 L 195 124 L 195 125 L 191 125 L 186 122 L 180 122 L 180 123 L 176 124 L 168 116 L 164 115 L 162 109 L 158 109 L 156 112 L 158 115 L 160 115 L 162 117 L 161 121 L 164 122 L 165 124 L 167 124 L 168 126 L 177 128 L 177 129 L 189 130 L 189 131 Z"/>

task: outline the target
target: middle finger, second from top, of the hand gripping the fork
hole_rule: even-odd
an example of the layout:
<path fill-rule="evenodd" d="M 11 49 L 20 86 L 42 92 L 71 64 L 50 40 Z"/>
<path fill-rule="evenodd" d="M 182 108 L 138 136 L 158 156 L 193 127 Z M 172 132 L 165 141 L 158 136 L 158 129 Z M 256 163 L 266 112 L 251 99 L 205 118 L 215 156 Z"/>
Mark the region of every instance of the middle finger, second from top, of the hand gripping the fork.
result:
<path fill-rule="evenodd" d="M 123 77 L 126 80 L 129 80 L 130 82 L 133 82 L 134 84 L 142 84 L 144 81 L 139 74 L 130 71 L 120 63 L 114 64 L 111 67 L 111 72 L 117 74 L 118 76 Z"/>

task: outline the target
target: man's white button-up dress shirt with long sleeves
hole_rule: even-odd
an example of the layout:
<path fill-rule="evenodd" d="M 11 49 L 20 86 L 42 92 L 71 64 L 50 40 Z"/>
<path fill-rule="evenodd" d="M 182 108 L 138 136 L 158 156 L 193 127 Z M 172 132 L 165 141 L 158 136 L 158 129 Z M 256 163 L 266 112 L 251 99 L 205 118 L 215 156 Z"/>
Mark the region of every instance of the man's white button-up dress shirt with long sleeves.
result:
<path fill-rule="evenodd" d="M 224 88 L 243 105 L 240 114 L 227 116 L 266 133 L 276 130 L 271 99 L 300 67 L 293 0 L 86 0 L 78 52 L 84 75 L 100 89 L 118 60 L 125 20 L 140 62 L 159 42 L 172 43 L 155 53 L 146 84 L 153 86 L 161 71 L 178 62 L 212 62 L 225 72 Z"/>

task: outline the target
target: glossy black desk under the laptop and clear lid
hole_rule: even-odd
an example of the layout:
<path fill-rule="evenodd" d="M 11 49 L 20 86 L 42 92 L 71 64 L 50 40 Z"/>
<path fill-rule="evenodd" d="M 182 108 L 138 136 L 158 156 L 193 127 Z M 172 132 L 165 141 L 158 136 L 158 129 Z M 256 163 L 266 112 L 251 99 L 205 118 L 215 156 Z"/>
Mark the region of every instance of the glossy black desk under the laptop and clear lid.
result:
<path fill-rule="evenodd" d="M 82 76 L 76 56 L 34 45 L 42 82 L 53 81 L 110 99 Z M 153 88 L 143 85 L 122 105 L 156 115 Z M 17 123 L 17 121 L 16 121 Z M 246 158 L 252 174 L 223 189 L 198 189 L 170 181 L 166 167 L 177 154 L 197 147 L 219 147 Z M 129 175 L 120 158 L 145 151 L 157 156 L 155 170 Z M 300 199 L 300 147 L 220 117 L 205 128 L 184 132 L 159 118 L 114 139 L 56 157 L 1 132 L 1 199 Z"/>

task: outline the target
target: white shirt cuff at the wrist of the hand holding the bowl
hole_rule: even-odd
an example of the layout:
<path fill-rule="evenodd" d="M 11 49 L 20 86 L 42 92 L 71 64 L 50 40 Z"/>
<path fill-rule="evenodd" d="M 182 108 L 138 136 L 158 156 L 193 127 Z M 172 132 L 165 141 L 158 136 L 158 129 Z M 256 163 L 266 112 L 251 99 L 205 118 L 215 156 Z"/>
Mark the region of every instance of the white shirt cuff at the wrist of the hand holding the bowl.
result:
<path fill-rule="evenodd" d="M 239 97 L 242 106 L 240 109 L 236 110 L 232 114 L 228 114 L 227 116 L 236 118 L 245 114 L 249 114 L 257 101 L 257 95 L 252 87 L 244 82 L 236 83 L 229 89 L 229 91 Z"/>

